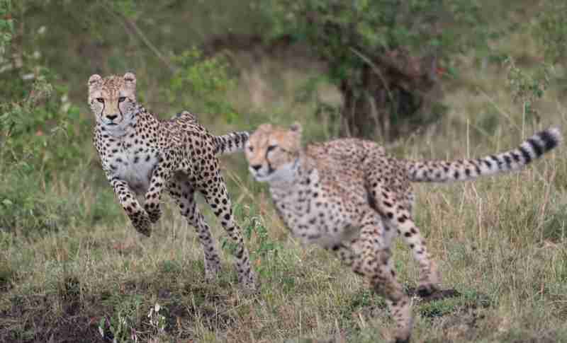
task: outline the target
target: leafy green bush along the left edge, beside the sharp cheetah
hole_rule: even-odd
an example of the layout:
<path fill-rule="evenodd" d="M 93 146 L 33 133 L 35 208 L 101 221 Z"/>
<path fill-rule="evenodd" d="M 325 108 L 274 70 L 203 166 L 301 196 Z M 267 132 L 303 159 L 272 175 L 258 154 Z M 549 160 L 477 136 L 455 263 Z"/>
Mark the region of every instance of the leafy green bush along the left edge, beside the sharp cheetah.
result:
<path fill-rule="evenodd" d="M 1 18 L 13 16 L 9 4 L 0 4 Z M 0 27 L 13 31 L 6 21 L 0 20 Z M 33 236 L 60 230 L 77 218 L 93 220 L 99 205 L 87 215 L 79 199 L 59 197 L 52 182 L 86 158 L 86 120 L 50 69 L 14 46 L 8 35 L 1 37 L 6 68 L 0 74 L 6 77 L 0 79 L 0 230 Z"/>

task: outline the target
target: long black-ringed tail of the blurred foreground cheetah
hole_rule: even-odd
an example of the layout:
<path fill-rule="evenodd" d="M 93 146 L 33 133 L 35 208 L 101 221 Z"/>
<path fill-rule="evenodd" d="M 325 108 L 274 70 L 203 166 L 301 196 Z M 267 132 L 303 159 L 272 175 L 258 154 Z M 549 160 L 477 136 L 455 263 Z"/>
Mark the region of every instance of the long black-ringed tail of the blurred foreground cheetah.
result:
<path fill-rule="evenodd" d="M 516 149 L 459 161 L 407 161 L 411 182 L 466 181 L 483 175 L 520 170 L 563 140 L 556 127 L 544 129 L 524 141 Z"/>

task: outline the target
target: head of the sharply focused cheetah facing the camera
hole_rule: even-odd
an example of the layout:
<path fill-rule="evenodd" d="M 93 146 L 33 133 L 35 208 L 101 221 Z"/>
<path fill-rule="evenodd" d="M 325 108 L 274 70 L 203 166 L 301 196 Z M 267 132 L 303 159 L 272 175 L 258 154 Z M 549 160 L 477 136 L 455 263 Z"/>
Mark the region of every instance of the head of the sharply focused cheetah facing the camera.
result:
<path fill-rule="evenodd" d="M 125 129 L 133 120 L 136 102 L 136 76 L 126 73 L 124 76 L 102 78 L 94 74 L 89 78 L 89 105 L 96 122 L 109 131 Z"/>

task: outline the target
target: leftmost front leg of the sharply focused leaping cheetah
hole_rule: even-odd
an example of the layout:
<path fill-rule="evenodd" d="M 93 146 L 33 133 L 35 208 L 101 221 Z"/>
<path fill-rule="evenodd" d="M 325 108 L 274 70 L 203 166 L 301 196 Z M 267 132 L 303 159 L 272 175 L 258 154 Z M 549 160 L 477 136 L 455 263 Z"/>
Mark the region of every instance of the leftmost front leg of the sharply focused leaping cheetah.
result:
<path fill-rule="evenodd" d="M 114 194 L 118 197 L 120 205 L 122 205 L 122 208 L 126 212 L 126 215 L 128 215 L 128 218 L 130 218 L 136 231 L 142 233 L 144 236 L 150 237 L 152 235 L 150 216 L 147 215 L 147 212 L 142 209 L 140 203 L 137 202 L 135 194 L 130 190 L 128 183 L 108 173 L 106 176 L 108 180 L 110 180 Z"/>

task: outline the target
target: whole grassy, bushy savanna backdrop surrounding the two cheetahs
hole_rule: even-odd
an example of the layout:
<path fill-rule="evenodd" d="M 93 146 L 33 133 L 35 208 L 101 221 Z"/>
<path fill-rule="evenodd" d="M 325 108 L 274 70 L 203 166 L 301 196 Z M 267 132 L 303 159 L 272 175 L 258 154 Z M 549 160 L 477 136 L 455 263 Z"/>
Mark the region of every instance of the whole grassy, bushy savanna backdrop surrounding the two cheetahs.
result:
<path fill-rule="evenodd" d="M 288 237 L 240 153 L 223 168 L 263 280 L 256 299 L 228 253 L 220 283 L 203 281 L 174 207 L 139 238 L 92 146 L 86 81 L 132 71 L 149 110 L 195 112 L 214 134 L 299 121 L 305 143 L 482 156 L 563 129 L 565 13 L 562 0 L 0 0 L 0 341 L 387 339 L 381 298 Z M 417 223 L 465 294 L 422 304 L 417 342 L 567 342 L 561 155 L 521 176 L 416 187 Z"/>

